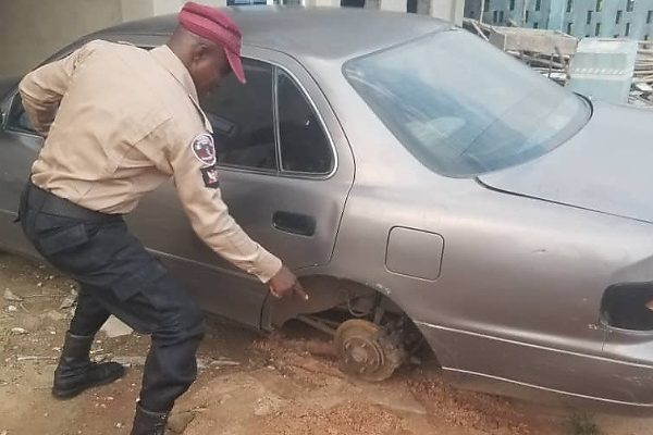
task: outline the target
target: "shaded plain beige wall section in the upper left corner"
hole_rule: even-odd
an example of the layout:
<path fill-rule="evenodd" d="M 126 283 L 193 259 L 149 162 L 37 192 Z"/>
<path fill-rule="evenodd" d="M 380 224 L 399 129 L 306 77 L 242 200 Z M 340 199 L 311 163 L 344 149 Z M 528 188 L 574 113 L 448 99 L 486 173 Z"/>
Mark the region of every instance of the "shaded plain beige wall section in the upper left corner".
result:
<path fill-rule="evenodd" d="M 120 0 L 1 0 L 0 77 L 21 75 L 79 36 L 122 21 Z"/>

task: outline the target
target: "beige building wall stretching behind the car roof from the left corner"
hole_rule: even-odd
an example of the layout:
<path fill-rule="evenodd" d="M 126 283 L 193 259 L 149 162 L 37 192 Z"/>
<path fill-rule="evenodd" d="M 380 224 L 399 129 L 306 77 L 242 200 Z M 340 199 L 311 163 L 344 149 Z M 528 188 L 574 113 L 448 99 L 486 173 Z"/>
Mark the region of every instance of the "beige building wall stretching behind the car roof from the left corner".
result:
<path fill-rule="evenodd" d="M 465 0 L 196 0 L 214 7 L 304 4 L 415 12 L 463 23 Z M 178 12 L 186 0 L 0 0 L 0 78 L 22 75 L 82 35 Z"/>

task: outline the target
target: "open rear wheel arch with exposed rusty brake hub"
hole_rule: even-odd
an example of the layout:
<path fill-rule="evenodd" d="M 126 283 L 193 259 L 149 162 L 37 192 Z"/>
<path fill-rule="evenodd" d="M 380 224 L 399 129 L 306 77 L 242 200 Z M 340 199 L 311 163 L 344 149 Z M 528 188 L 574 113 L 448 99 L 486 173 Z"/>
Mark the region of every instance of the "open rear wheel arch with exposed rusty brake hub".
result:
<path fill-rule="evenodd" d="M 312 275 L 300 279 L 309 300 L 276 299 L 269 296 L 261 316 L 263 331 L 281 328 L 293 319 L 309 324 L 332 335 L 341 370 L 348 373 L 356 366 L 354 372 L 365 372 L 365 378 L 372 381 L 385 380 L 405 362 L 419 361 L 415 355 L 422 345 L 438 360 L 422 331 L 392 299 L 391 295 L 397 293 L 382 285 L 366 285 L 329 275 Z M 352 347 L 348 339 L 354 340 L 350 343 L 365 341 L 366 345 Z M 357 347 L 360 347 L 358 355 L 361 349 L 371 352 L 364 358 L 370 364 L 364 365 L 365 369 L 356 365 L 359 361 L 352 362 L 356 357 L 349 352 L 356 352 L 352 349 Z"/>

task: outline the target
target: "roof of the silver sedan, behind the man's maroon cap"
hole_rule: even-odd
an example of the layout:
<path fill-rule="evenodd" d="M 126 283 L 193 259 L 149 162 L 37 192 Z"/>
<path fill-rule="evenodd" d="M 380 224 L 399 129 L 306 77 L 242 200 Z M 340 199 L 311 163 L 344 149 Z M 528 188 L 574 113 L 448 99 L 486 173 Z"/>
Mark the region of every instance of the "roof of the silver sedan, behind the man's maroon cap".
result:
<path fill-rule="evenodd" d="M 347 59 L 451 28 L 427 15 L 358 8 L 248 5 L 220 8 L 243 33 L 243 44 L 298 59 Z M 177 15 L 161 15 L 96 34 L 169 36 Z"/>

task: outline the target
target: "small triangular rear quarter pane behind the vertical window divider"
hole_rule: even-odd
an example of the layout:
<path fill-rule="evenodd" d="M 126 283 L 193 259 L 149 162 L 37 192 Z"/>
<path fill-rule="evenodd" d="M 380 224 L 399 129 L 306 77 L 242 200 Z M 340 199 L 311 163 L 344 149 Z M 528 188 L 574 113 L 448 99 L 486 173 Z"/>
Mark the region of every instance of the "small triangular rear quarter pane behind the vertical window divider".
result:
<path fill-rule="evenodd" d="M 331 172 L 333 154 L 329 139 L 304 92 L 282 71 L 278 74 L 276 92 L 283 171 L 311 174 Z"/>

